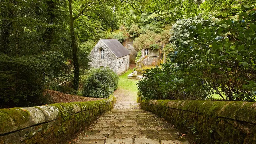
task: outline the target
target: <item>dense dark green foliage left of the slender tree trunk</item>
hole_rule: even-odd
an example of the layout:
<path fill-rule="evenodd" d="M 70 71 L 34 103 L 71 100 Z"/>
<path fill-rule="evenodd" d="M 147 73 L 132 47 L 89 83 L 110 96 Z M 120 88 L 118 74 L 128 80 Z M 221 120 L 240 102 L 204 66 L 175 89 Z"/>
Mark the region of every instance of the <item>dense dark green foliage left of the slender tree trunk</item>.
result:
<path fill-rule="evenodd" d="M 47 80 L 68 69 L 65 2 L 1 1 L 0 7 L 0 105 L 45 104 Z"/>

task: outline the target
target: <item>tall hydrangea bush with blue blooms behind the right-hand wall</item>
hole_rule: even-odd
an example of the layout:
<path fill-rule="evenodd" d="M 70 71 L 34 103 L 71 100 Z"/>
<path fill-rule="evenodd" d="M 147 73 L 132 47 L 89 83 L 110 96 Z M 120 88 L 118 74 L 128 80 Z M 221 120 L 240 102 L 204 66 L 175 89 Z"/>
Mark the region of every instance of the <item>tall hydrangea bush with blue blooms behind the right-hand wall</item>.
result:
<path fill-rule="evenodd" d="M 180 71 L 203 79 L 226 100 L 254 100 L 256 88 L 254 7 L 242 7 L 238 20 L 215 20 L 202 27 L 193 23 L 190 36 L 173 56 Z M 224 94 L 223 94 L 224 93 Z"/>

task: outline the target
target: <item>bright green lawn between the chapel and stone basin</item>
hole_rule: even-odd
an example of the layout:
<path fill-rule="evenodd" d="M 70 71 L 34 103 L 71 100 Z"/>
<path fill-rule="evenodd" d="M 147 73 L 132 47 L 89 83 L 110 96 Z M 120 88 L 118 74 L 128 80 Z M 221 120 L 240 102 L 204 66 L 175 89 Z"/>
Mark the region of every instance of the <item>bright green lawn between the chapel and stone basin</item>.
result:
<path fill-rule="evenodd" d="M 133 71 L 132 69 L 129 69 L 124 74 L 119 76 L 118 87 L 120 89 L 129 90 L 132 93 L 132 95 L 137 95 L 138 89 L 137 89 L 136 82 L 138 80 L 127 78 L 127 76 L 131 74 L 132 71 Z"/>

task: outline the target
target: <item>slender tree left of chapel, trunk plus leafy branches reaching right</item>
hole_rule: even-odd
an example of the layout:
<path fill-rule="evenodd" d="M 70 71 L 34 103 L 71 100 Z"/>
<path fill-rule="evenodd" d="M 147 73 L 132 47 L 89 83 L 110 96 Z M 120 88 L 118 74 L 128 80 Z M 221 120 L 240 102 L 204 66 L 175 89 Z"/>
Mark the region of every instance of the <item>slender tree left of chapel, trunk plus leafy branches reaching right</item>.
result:
<path fill-rule="evenodd" d="M 131 1 L 73 1 L 69 0 L 69 17 L 70 17 L 70 36 L 72 40 L 72 52 L 73 52 L 73 65 L 74 65 L 74 90 L 77 91 L 79 87 L 79 70 L 80 64 L 78 60 L 78 40 L 74 30 L 74 22 L 80 17 L 85 17 L 89 20 L 96 20 L 104 23 L 112 29 L 117 28 L 114 9 L 116 6 L 123 3 L 129 3 Z M 77 8 L 77 9 L 74 9 Z M 87 20 L 88 22 L 88 20 Z"/>

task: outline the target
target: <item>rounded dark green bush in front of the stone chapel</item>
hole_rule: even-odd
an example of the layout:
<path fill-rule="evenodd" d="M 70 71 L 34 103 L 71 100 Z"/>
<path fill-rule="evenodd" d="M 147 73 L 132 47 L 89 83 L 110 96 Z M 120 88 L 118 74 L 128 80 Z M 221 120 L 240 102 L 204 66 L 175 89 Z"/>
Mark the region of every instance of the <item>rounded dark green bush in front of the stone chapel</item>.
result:
<path fill-rule="evenodd" d="M 118 87 L 118 75 L 109 68 L 92 69 L 84 82 L 83 96 L 108 98 Z"/>

